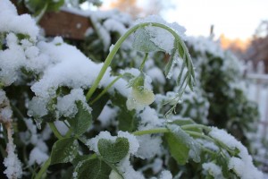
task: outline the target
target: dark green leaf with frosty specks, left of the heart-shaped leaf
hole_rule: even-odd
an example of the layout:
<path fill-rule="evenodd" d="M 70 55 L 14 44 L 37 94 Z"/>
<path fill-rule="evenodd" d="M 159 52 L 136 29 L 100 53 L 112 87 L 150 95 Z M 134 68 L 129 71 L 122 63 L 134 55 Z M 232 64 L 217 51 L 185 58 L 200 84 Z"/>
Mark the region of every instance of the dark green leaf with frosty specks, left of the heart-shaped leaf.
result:
<path fill-rule="evenodd" d="M 78 154 L 79 143 L 71 137 L 54 142 L 51 152 L 51 165 L 71 162 Z"/>

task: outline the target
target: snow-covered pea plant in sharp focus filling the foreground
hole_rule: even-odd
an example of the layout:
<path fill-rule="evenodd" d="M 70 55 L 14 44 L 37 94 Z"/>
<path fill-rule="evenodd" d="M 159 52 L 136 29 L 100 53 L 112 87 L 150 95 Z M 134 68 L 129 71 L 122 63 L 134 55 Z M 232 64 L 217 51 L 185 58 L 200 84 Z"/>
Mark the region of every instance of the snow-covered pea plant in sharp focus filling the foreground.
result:
<path fill-rule="evenodd" d="M 263 178 L 230 134 L 173 112 L 196 83 L 183 32 L 156 16 L 139 20 L 109 47 L 104 63 L 95 63 L 63 38 L 42 37 L 28 14 L 1 0 L 4 175 L 169 179 L 185 177 L 181 166 L 195 164 L 204 178 Z M 142 57 L 138 68 L 114 70 L 110 64 L 127 39 Z M 161 68 L 149 65 L 157 51 L 168 55 Z M 155 90 L 154 81 L 170 79 L 172 91 Z"/>

